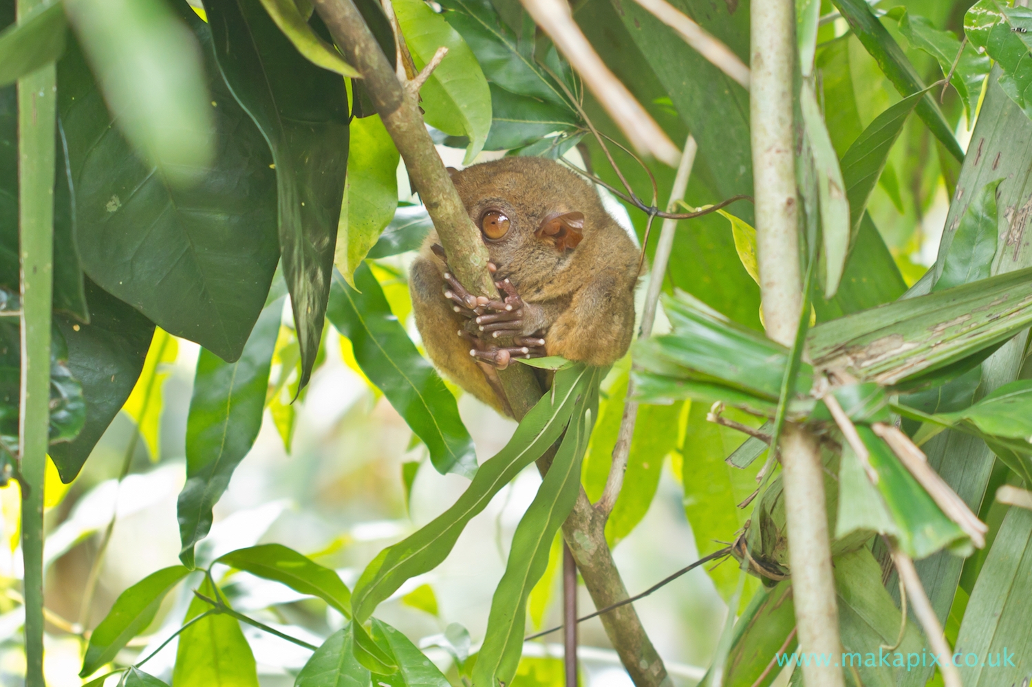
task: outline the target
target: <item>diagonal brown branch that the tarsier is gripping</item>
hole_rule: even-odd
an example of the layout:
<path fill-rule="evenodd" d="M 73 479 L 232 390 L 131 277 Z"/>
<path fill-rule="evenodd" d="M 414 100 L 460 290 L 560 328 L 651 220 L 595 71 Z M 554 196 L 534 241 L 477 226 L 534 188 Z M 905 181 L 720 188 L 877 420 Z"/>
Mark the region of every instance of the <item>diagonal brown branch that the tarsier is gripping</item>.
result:
<path fill-rule="evenodd" d="M 471 291 L 494 296 L 497 292 L 487 271 L 487 249 L 480 232 L 455 191 L 415 101 L 391 69 L 362 15 L 352 0 L 315 0 L 315 8 L 344 52 L 345 59 L 361 72 L 366 92 L 433 221 L 451 269 Z M 510 365 L 498 377 L 513 414 L 517 419 L 522 418 L 541 397 L 540 386 L 523 365 Z M 547 454 L 540 459 L 539 469 L 547 470 L 549 459 Z M 562 532 L 595 608 L 605 608 L 627 597 L 606 542 L 605 529 L 605 518 L 599 517 L 581 489 L 573 512 L 562 525 Z M 603 624 L 637 687 L 670 684 L 663 659 L 633 606 L 606 614 Z"/>

